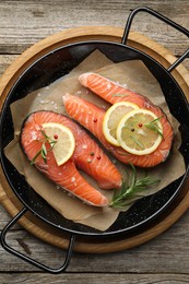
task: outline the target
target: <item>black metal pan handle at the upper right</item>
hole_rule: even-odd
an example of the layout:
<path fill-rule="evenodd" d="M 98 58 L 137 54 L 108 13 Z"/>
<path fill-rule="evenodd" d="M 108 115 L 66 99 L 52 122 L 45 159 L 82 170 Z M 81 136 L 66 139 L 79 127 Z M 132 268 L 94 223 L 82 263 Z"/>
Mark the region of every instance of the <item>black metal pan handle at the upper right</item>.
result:
<path fill-rule="evenodd" d="M 147 7 L 139 7 L 135 8 L 133 10 L 131 10 L 131 13 L 128 16 L 127 23 L 126 23 L 126 27 L 125 27 L 125 32 L 122 35 L 122 39 L 121 39 L 121 44 L 127 45 L 127 40 L 128 40 L 128 36 L 129 36 L 129 32 L 131 28 L 131 24 L 133 21 L 133 17 L 135 16 L 135 14 L 138 14 L 139 12 L 146 12 L 152 14 L 153 16 L 162 20 L 164 23 L 170 25 L 172 27 L 176 28 L 177 31 L 179 31 L 180 33 L 182 33 L 184 35 L 186 35 L 187 37 L 189 37 L 189 31 L 182 26 L 180 26 L 179 24 L 175 23 L 174 21 L 172 21 L 170 19 L 160 14 L 158 12 L 147 8 Z M 167 68 L 168 72 L 172 72 L 177 66 L 179 66 L 186 58 L 189 58 L 189 48 L 169 67 Z"/>

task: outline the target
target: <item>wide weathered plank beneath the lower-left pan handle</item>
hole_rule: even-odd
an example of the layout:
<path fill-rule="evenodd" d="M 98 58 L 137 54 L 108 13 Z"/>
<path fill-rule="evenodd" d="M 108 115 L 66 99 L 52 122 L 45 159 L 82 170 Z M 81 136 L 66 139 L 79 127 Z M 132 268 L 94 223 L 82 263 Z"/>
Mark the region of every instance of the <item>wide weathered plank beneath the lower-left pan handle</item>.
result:
<path fill-rule="evenodd" d="M 134 249 L 105 255 L 73 252 L 68 272 L 187 274 L 188 235 L 189 214 L 186 213 L 169 230 Z M 47 265 L 58 268 L 63 263 L 63 250 L 40 241 L 23 229 L 11 230 L 8 240 L 16 250 Z M 1 247 L 0 263 L 1 272 L 38 271 Z"/>

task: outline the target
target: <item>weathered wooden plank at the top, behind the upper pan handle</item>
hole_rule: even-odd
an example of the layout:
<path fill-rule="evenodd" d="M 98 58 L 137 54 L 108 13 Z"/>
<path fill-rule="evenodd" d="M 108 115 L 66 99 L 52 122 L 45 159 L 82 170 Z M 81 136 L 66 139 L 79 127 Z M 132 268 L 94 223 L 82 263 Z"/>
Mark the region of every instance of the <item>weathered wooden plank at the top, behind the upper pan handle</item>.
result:
<path fill-rule="evenodd" d="M 163 13 L 180 25 L 189 28 L 189 2 L 184 1 L 145 1 L 145 5 Z M 1 1 L 0 2 L 0 54 L 21 54 L 39 39 L 54 33 L 78 26 L 119 26 L 125 27 L 130 9 L 141 5 L 122 0 L 97 1 Z M 173 9 L 174 7 L 174 9 Z M 21 16 L 22 15 L 22 16 Z M 187 38 L 165 26 L 157 19 L 140 13 L 132 24 L 134 31 L 155 38 L 176 55 L 182 52 Z"/>

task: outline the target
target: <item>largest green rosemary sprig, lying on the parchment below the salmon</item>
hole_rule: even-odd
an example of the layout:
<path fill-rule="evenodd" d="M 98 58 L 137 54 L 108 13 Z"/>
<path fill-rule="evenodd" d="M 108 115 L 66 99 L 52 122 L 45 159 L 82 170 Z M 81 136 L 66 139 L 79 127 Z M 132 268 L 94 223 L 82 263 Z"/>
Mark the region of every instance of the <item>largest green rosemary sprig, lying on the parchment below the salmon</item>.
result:
<path fill-rule="evenodd" d="M 138 196 L 139 192 L 149 189 L 152 185 L 157 184 L 160 180 L 154 179 L 150 176 L 144 176 L 137 178 L 137 170 L 133 165 L 131 165 L 132 174 L 129 181 L 122 180 L 121 188 L 115 190 L 113 200 L 109 206 L 115 209 L 125 209 L 129 204 L 129 200 Z"/>

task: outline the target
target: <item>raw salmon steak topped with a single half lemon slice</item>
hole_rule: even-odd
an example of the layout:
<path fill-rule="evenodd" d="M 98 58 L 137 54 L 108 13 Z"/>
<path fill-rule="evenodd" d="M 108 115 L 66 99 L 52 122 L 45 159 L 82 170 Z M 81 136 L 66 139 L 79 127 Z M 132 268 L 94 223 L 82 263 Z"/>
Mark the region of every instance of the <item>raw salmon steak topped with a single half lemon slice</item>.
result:
<path fill-rule="evenodd" d="M 36 159 L 36 168 L 84 202 L 95 206 L 108 205 L 107 198 L 91 186 L 78 168 L 92 176 L 102 189 L 119 188 L 121 175 L 98 144 L 68 117 L 54 111 L 40 110 L 31 114 L 24 120 L 20 143 L 27 158 L 33 161 L 42 149 L 44 138 L 42 125 L 44 122 L 58 122 L 68 127 L 74 135 L 75 149 L 72 157 L 61 166 L 57 165 L 52 151 L 48 151 L 46 162 L 40 156 Z"/>

